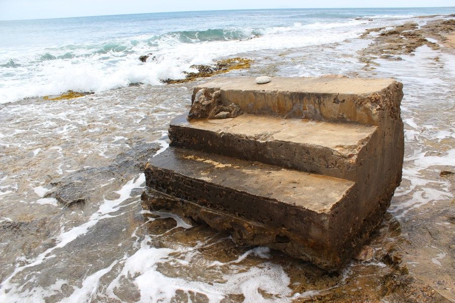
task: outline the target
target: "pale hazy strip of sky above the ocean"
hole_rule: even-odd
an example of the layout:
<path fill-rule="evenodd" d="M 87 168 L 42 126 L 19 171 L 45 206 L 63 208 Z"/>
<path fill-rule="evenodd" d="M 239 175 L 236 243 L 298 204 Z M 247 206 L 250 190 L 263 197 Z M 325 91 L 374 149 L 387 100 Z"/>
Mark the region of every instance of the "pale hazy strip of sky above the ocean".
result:
<path fill-rule="evenodd" d="M 455 0 L 0 0 L 0 20 L 277 8 L 448 7 Z"/>

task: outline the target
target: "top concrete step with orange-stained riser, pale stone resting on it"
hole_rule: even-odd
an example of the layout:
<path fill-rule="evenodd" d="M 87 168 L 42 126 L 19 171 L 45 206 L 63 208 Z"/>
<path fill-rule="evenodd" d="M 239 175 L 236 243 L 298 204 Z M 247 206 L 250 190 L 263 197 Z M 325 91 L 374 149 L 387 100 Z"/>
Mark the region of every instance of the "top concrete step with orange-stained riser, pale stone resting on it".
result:
<path fill-rule="evenodd" d="M 380 125 L 397 118 L 402 84 L 393 79 L 340 76 L 272 78 L 256 84 L 253 77 L 217 78 L 195 87 L 220 90 L 223 105 L 235 103 L 244 113 L 320 121 Z"/>

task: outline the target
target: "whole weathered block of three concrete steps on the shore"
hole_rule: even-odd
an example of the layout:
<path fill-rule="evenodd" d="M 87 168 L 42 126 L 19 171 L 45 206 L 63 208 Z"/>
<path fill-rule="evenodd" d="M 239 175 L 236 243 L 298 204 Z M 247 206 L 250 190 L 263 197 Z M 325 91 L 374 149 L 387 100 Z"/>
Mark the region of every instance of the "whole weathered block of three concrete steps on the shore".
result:
<path fill-rule="evenodd" d="M 401 180 L 401 89 L 344 77 L 196 87 L 192 119 L 174 119 L 170 147 L 146 165 L 143 205 L 338 270 Z M 204 118 L 218 111 L 234 118 Z"/>

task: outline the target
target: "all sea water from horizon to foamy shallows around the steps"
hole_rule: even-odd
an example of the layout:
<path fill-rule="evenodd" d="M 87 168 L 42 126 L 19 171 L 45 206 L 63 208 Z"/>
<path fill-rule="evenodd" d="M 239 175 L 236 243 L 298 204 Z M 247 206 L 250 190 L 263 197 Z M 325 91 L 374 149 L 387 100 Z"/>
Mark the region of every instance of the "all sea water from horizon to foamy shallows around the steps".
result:
<path fill-rule="evenodd" d="M 286 9 L 0 21 L 0 302 L 454 300 L 453 48 L 428 36 L 438 48 L 365 61 L 379 33 L 361 36 L 454 13 Z M 207 78 L 162 80 L 233 57 L 251 67 L 215 77 L 341 74 L 403 83 L 403 177 L 367 243 L 371 258 L 327 273 L 141 206 L 144 163 L 168 146 L 169 121 L 188 113 L 193 87 Z M 43 98 L 68 90 L 93 94 Z"/>

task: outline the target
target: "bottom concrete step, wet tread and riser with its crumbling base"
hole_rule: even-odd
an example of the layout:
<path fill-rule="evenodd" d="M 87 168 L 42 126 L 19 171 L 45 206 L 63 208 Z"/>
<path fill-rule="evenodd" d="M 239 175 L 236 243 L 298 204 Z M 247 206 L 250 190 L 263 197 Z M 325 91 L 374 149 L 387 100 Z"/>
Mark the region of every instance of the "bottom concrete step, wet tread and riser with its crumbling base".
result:
<path fill-rule="evenodd" d="M 353 218 L 348 180 L 169 147 L 146 165 L 144 202 L 336 270 L 388 205 Z M 384 208 L 385 207 L 385 208 Z M 360 220 L 359 220 L 360 219 Z M 365 231 L 359 237 L 359 227 Z"/>

